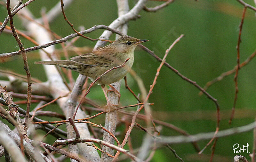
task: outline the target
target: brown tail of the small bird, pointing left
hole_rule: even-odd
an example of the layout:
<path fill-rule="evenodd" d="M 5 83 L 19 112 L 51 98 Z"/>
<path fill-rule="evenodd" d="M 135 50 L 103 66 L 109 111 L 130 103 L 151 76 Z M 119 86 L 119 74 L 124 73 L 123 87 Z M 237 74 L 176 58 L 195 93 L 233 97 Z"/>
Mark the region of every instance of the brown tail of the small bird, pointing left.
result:
<path fill-rule="evenodd" d="M 35 64 L 46 64 L 46 65 L 56 65 L 59 67 L 65 67 L 71 70 L 77 70 L 78 64 L 72 60 L 53 60 L 53 61 L 38 61 Z"/>

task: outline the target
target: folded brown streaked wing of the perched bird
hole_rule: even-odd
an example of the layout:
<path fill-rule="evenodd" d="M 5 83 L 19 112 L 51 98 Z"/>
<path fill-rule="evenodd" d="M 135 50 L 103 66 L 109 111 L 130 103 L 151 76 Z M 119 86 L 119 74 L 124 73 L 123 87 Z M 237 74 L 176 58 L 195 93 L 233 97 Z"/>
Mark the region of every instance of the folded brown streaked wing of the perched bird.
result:
<path fill-rule="evenodd" d="M 71 60 L 87 66 L 108 66 L 111 62 L 103 55 L 86 53 L 80 56 L 72 57 Z"/>

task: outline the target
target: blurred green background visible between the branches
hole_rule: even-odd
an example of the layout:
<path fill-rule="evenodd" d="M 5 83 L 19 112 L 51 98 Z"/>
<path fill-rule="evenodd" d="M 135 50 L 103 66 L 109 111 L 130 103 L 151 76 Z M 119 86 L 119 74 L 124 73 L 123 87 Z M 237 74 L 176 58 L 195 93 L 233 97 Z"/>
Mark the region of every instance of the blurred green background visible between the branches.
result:
<path fill-rule="evenodd" d="M 35 1 L 28 5 L 29 10 L 36 18 L 41 17 L 41 9 L 46 8 L 49 11 L 53 5 L 58 3 L 57 0 Z M 130 8 L 137 1 L 130 0 Z M 245 1 L 248 4 L 254 4 L 253 0 Z M 161 2 L 149 1 L 147 6 L 155 6 Z M 139 39 L 149 39 L 149 42 L 144 43 L 159 57 L 164 56 L 165 50 L 180 34 L 185 37 L 178 42 L 169 53 L 166 62 L 175 67 L 189 79 L 196 81 L 201 87 L 206 82 L 219 76 L 221 73 L 231 70 L 236 65 L 236 45 L 239 32 L 239 23 L 242 17 L 243 6 L 235 0 L 176 0 L 174 3 L 164 9 L 155 12 L 141 11 L 141 18 L 136 21 L 129 22 L 128 35 Z M 93 25 L 109 25 L 117 18 L 117 6 L 114 0 L 76 0 L 66 10 L 66 15 L 69 21 L 78 29 L 79 26 L 84 26 L 85 29 Z M 0 6 L 0 21 L 3 22 L 7 16 L 7 11 L 4 6 Z M 9 24 L 8 24 L 9 25 Z M 15 16 L 14 25 L 17 29 L 25 30 L 20 22 L 20 19 Z M 64 21 L 60 15 L 53 23 L 50 24 L 52 31 L 64 37 L 73 33 L 70 26 Z M 242 31 L 242 42 L 240 46 L 240 58 L 243 62 L 255 50 L 256 42 L 256 18 L 255 12 L 247 9 Z M 97 30 L 86 36 L 98 38 L 103 30 Z M 114 40 L 114 35 L 110 38 Z M 31 42 L 21 37 L 24 47 L 34 46 Z M 79 38 L 75 45 L 77 47 L 91 47 L 95 42 L 91 42 L 84 38 Z M 56 45 L 56 48 L 61 48 Z M 8 53 L 17 51 L 18 46 L 15 39 L 9 33 L 3 33 L 0 36 L 0 53 Z M 28 54 L 28 63 L 32 77 L 46 81 L 43 67 L 33 64 L 38 61 L 38 51 Z M 72 55 L 72 54 L 71 54 Z M 70 57 L 71 57 L 70 55 Z M 74 55 L 74 53 L 73 53 Z M 135 51 L 135 61 L 133 69 L 143 79 L 147 89 L 152 84 L 156 69 L 159 66 L 153 57 L 148 53 L 137 48 Z M 220 104 L 221 122 L 220 130 L 232 127 L 242 126 L 254 121 L 256 112 L 256 61 L 252 60 L 247 66 L 241 68 L 238 75 L 238 100 L 236 104 L 236 114 L 231 125 L 228 124 L 230 110 L 233 106 L 235 95 L 235 83 L 233 81 L 234 74 L 217 82 L 207 91 Z M 24 74 L 23 60 L 21 56 L 15 56 L 6 59 L 6 62 L 0 64 L 0 68 L 8 68 L 12 71 Z M 74 73 L 74 78 L 78 74 Z M 1 77 L 0 79 L 6 79 Z M 128 76 L 128 84 L 139 93 L 138 86 L 131 76 Z M 3 85 L 4 86 L 4 85 Z M 190 134 L 200 132 L 214 131 L 216 127 L 216 107 L 205 95 L 199 96 L 198 89 L 188 82 L 182 80 L 179 76 L 173 73 L 167 67 L 161 69 L 157 79 L 157 84 L 153 90 L 153 94 L 149 98 L 149 102 L 155 103 L 151 109 L 155 119 L 163 120 L 172 123 L 177 127 L 186 130 Z M 125 89 L 124 83 L 121 87 L 121 105 L 130 105 L 136 103 L 133 96 Z M 96 100 L 99 104 L 105 104 L 104 95 L 100 86 L 94 86 L 88 95 L 89 98 Z M 36 104 L 32 105 L 32 108 Z M 25 105 L 20 105 L 25 108 Z M 52 110 L 52 108 L 55 108 Z M 135 108 L 129 108 L 134 110 Z M 49 106 L 45 110 L 58 111 L 56 105 Z M 93 112 L 94 113 L 94 112 Z M 48 119 L 49 118 L 43 118 Z M 58 119 L 50 119 L 58 120 Z M 100 116 L 93 120 L 97 124 L 104 125 L 104 116 Z M 138 120 L 139 123 L 144 124 Z M 144 124 L 145 125 L 145 124 Z M 146 125 L 145 125 L 146 126 Z M 64 128 L 64 127 L 63 127 Z M 117 131 L 123 132 L 124 127 L 120 127 Z M 39 133 L 43 133 L 40 132 Z M 132 144 L 134 148 L 141 145 L 145 133 L 134 128 L 131 134 Z M 163 127 L 161 135 L 175 136 L 178 133 Z M 119 137 L 122 141 L 123 137 Z M 52 141 L 54 138 L 52 139 Z M 218 139 L 214 161 L 234 161 L 232 146 L 235 143 L 249 143 L 249 152 L 252 152 L 253 132 L 240 133 L 229 137 L 221 137 Z M 202 149 L 206 141 L 198 142 Z M 177 154 L 185 161 L 209 161 L 211 147 L 207 147 L 202 156 L 197 155 L 192 144 L 171 144 Z M 128 147 L 125 147 L 128 149 Z M 251 160 L 246 152 L 238 155 L 245 156 Z M 0 160 L 4 160 L 0 158 Z M 154 158 L 151 160 L 158 161 L 179 161 L 176 160 L 170 150 L 163 147 L 156 151 Z"/>

